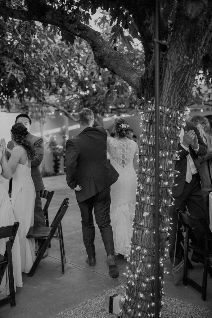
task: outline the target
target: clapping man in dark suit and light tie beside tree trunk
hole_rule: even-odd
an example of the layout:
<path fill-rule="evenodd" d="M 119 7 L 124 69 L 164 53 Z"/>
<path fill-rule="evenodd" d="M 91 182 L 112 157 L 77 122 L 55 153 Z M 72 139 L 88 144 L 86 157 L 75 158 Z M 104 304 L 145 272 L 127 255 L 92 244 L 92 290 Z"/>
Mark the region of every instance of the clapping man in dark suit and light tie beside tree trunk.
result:
<path fill-rule="evenodd" d="M 170 208 L 170 216 L 173 224 L 171 224 L 171 229 L 169 229 L 169 256 L 172 263 L 174 259 L 176 233 L 178 232 L 175 265 L 181 262 L 183 256 L 180 243 L 180 228 L 182 224 L 179 220 L 179 226 L 177 228 L 178 216 L 175 209 L 185 211 L 185 207 L 187 206 L 191 216 L 195 218 L 205 218 L 208 222 L 207 210 L 200 184 L 200 181 L 203 184 L 202 170 L 198 159 L 198 156 L 202 157 L 207 154 L 207 146 L 193 122 L 186 122 L 186 126 L 181 129 L 180 139 L 181 143 L 178 145 L 178 158 L 175 164 L 176 176 L 172 188 L 174 205 Z M 196 238 L 200 246 L 202 244 L 200 233 L 197 233 Z M 201 261 L 200 255 L 193 252 L 191 260 L 196 262 Z"/>

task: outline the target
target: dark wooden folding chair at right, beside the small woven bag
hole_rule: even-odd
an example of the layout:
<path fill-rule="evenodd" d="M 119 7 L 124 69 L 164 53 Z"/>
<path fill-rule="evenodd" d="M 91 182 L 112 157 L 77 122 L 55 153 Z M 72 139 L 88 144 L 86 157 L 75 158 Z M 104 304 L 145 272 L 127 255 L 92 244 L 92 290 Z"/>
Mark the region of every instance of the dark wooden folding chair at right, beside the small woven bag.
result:
<path fill-rule="evenodd" d="M 186 230 L 185 236 L 185 250 L 184 250 L 184 270 L 183 270 L 183 284 L 191 285 L 196 290 L 202 294 L 202 300 L 206 300 L 206 289 L 207 289 L 207 278 L 208 273 L 212 278 L 212 269 L 209 264 L 209 258 L 212 257 L 212 254 L 209 253 L 209 245 L 212 246 L 212 232 L 209 229 L 205 219 L 203 218 L 194 218 L 189 214 L 186 214 L 180 210 L 176 210 L 179 213 L 179 218 Z M 196 245 L 195 231 L 201 231 L 205 236 L 205 246 L 204 249 L 201 249 Z M 189 241 L 189 239 L 191 241 Z M 203 276 L 202 276 L 202 285 L 199 285 L 197 282 L 188 277 L 188 250 L 192 249 L 195 252 L 198 252 L 203 256 Z"/>

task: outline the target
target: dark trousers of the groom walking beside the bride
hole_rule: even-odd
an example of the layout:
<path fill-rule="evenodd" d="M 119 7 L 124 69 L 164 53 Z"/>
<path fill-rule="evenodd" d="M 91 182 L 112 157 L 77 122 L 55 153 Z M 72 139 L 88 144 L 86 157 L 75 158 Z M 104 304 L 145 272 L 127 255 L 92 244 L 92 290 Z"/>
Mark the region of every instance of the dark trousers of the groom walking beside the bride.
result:
<path fill-rule="evenodd" d="M 96 224 L 101 232 L 106 254 L 114 255 L 113 231 L 110 225 L 110 203 L 110 187 L 85 201 L 78 201 L 82 217 L 83 242 L 89 259 L 95 258 L 95 226 L 92 210 L 94 210 Z"/>

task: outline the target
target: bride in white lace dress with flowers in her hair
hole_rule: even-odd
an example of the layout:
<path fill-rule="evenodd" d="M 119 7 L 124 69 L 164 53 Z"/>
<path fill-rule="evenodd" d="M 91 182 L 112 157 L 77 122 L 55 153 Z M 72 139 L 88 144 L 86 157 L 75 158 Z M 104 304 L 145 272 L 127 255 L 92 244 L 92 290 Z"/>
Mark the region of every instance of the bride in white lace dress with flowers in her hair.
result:
<path fill-rule="evenodd" d="M 139 148 L 134 140 L 127 138 L 128 132 L 127 121 L 124 118 L 117 119 L 113 128 L 115 136 L 107 144 L 110 162 L 120 175 L 111 186 L 110 218 L 115 255 L 120 253 L 124 258 L 130 254 L 136 203 L 136 173 L 139 171 Z"/>

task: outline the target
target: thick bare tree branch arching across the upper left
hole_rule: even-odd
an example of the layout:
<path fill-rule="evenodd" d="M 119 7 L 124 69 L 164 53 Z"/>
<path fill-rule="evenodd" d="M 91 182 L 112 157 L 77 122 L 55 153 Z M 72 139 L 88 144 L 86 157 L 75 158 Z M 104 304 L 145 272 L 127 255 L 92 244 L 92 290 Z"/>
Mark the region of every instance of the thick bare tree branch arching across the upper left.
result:
<path fill-rule="evenodd" d="M 33 8 L 38 6 L 34 1 Z M 32 8 L 31 8 L 32 9 Z M 140 79 L 142 72 L 131 64 L 127 55 L 114 51 L 102 38 L 101 34 L 89 26 L 81 23 L 79 17 L 58 11 L 46 5 L 38 10 L 15 10 L 3 7 L 0 15 L 24 21 L 40 21 L 41 23 L 53 24 L 63 31 L 70 32 L 74 36 L 83 38 L 92 48 L 94 60 L 99 67 L 107 68 L 112 73 L 124 79 L 130 86 L 140 91 Z"/>

